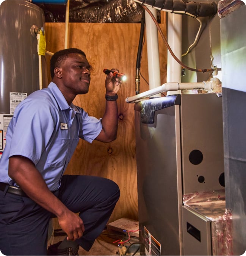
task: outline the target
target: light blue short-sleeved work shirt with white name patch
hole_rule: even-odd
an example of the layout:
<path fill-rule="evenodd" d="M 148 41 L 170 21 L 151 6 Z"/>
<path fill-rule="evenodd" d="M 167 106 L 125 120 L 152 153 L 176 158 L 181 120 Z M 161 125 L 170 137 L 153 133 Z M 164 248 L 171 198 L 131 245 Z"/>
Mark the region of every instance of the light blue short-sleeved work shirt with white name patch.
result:
<path fill-rule="evenodd" d="M 101 130 L 100 119 L 73 104 L 69 106 L 51 82 L 16 107 L 0 159 L 0 181 L 17 186 L 8 176 L 8 158 L 20 155 L 35 164 L 50 191 L 57 190 L 79 138 L 91 143 Z"/>

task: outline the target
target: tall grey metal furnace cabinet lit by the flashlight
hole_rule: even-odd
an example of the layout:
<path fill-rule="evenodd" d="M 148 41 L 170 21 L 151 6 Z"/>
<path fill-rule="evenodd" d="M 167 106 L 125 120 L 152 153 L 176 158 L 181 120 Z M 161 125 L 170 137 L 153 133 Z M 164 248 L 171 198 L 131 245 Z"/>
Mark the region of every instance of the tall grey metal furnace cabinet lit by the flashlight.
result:
<path fill-rule="evenodd" d="M 183 255 L 183 196 L 224 189 L 221 97 L 138 102 L 135 128 L 141 255 Z"/>

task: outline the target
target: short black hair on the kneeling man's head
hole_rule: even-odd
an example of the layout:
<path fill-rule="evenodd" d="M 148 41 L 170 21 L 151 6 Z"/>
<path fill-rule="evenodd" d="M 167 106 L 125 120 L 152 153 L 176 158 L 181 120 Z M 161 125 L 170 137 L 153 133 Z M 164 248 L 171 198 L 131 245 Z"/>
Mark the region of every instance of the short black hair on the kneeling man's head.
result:
<path fill-rule="evenodd" d="M 53 54 L 53 56 L 50 59 L 50 75 L 52 79 L 55 75 L 54 69 L 56 67 L 60 67 L 61 64 L 64 62 L 64 60 L 67 59 L 68 54 L 70 53 L 78 53 L 86 57 L 85 52 L 77 48 L 68 48 L 68 49 L 63 49 L 56 52 L 55 54 Z"/>

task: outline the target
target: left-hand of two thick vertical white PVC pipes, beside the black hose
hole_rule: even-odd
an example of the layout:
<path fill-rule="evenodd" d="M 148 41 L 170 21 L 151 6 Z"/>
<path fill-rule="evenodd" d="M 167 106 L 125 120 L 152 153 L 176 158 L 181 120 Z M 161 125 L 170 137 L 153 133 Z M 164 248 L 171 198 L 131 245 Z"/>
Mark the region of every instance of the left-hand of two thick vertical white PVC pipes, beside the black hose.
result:
<path fill-rule="evenodd" d="M 157 19 L 157 10 L 152 7 L 149 7 L 149 10 Z M 161 85 L 158 30 L 154 21 L 152 20 L 152 18 L 150 17 L 149 13 L 146 10 L 145 10 L 145 28 L 146 28 L 146 41 L 147 41 L 149 89 L 153 89 Z M 155 95 L 155 97 L 161 97 L 161 95 Z"/>

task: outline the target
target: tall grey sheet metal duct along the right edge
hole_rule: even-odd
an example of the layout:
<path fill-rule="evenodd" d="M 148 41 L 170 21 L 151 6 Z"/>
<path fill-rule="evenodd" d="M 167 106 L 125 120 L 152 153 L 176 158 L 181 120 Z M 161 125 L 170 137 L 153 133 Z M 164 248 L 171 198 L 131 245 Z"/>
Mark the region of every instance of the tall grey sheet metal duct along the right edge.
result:
<path fill-rule="evenodd" d="M 233 254 L 246 250 L 246 6 L 221 1 L 219 6 L 226 207 L 232 210 Z"/>

